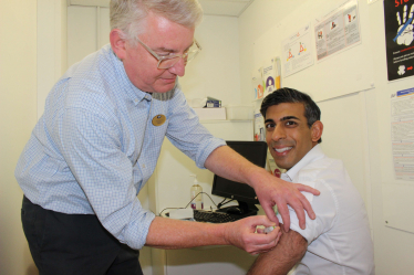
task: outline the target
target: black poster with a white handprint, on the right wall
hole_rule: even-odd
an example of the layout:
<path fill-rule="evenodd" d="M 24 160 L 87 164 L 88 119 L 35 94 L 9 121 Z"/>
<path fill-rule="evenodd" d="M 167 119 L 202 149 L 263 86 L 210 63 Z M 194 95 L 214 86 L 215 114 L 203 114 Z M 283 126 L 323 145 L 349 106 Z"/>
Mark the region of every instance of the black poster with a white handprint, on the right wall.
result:
<path fill-rule="evenodd" d="M 414 0 L 384 0 L 389 81 L 414 75 Z"/>

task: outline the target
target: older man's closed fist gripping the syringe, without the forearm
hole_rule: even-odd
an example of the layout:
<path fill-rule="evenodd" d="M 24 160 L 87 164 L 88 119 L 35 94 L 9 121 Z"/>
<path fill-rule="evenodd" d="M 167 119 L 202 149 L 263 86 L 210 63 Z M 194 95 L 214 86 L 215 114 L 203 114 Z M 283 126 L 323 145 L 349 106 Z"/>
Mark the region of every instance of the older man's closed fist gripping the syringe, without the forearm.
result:
<path fill-rule="evenodd" d="M 249 216 L 237 222 L 226 223 L 225 239 L 251 255 L 260 254 L 272 250 L 280 239 L 280 228 L 275 228 L 269 234 L 255 233 L 257 225 L 275 225 L 267 216 Z"/>

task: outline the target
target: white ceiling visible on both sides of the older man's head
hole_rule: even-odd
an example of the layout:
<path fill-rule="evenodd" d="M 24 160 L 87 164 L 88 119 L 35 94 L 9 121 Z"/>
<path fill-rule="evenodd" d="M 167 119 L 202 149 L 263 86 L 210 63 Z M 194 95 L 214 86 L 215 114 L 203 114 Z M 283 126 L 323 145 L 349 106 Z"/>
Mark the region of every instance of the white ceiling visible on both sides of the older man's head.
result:
<path fill-rule="evenodd" d="M 208 15 L 239 17 L 255 0 L 198 0 Z M 68 6 L 110 7 L 110 0 L 68 0 Z"/>

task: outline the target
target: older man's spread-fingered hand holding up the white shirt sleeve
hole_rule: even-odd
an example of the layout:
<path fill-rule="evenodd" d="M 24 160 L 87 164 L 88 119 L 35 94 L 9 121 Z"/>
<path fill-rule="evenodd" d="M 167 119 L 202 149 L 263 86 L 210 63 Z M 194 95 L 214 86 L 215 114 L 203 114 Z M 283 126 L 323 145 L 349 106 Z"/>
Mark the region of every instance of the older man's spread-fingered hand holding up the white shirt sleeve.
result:
<path fill-rule="evenodd" d="M 301 229 L 304 229 L 306 224 L 303 209 L 308 212 L 310 219 L 315 219 L 311 204 L 300 191 L 306 191 L 318 195 L 320 193 L 318 190 L 300 183 L 291 183 L 281 180 L 266 171 L 258 173 L 255 177 L 255 182 L 251 183 L 251 186 L 255 188 L 256 194 L 260 201 L 260 205 L 263 208 L 267 216 L 279 225 L 278 218 L 273 211 L 275 204 L 278 207 L 278 211 L 282 216 L 286 231 L 289 231 L 290 226 L 288 204 L 297 213 Z"/>

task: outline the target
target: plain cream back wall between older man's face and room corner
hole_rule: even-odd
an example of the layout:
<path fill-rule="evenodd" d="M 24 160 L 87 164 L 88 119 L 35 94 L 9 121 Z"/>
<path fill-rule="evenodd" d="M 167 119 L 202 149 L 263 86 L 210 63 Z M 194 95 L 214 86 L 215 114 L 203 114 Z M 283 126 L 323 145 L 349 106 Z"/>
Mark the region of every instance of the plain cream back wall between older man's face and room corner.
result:
<path fill-rule="evenodd" d="M 179 80 L 186 98 L 211 96 L 222 105 L 240 103 L 238 20 L 205 15 L 195 38 L 203 50 Z"/>

